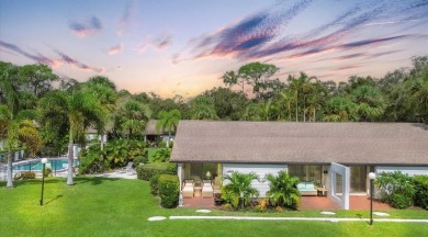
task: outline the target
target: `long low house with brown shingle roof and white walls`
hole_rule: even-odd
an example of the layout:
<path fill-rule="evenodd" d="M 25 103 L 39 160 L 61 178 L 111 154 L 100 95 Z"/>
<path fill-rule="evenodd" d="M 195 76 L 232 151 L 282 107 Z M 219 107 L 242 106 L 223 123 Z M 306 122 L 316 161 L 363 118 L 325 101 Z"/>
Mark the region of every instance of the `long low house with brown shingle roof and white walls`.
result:
<path fill-rule="evenodd" d="M 401 170 L 428 174 L 428 126 L 410 123 L 291 123 L 180 121 L 171 161 L 180 180 L 255 171 L 263 196 L 266 173 L 286 170 L 326 185 L 349 208 L 367 194 L 368 173 Z M 182 182 L 180 182 L 182 183 Z"/>

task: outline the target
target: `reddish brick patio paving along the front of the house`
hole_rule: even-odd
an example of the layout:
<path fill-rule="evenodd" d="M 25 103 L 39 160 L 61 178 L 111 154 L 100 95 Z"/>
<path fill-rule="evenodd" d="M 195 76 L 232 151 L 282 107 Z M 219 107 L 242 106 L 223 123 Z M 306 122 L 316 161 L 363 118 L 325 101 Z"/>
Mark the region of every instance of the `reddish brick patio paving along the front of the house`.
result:
<path fill-rule="evenodd" d="M 203 198 L 192 198 L 184 199 L 184 207 L 196 207 L 196 208 L 214 208 L 214 199 L 203 199 Z M 341 207 L 331 202 L 326 196 L 302 196 L 302 202 L 299 210 L 315 210 L 315 211 L 336 211 L 341 210 Z M 367 195 L 351 195 L 349 198 L 349 210 L 370 210 L 370 199 Z M 393 210 L 390 205 L 385 203 L 380 203 L 378 201 L 373 202 L 373 210 L 375 211 L 386 211 Z"/>

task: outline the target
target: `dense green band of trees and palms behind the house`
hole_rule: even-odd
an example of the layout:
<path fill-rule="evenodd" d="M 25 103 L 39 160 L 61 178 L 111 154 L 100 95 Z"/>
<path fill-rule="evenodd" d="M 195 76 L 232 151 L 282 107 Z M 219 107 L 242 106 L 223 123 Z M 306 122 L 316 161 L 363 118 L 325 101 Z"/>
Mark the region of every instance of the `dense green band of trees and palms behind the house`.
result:
<path fill-rule="evenodd" d="M 103 76 L 79 82 L 58 77 L 46 65 L 0 61 L 0 149 L 11 162 L 18 148 L 30 157 L 66 148 L 72 162 L 72 145 L 85 145 L 88 129 L 140 138 L 149 120 L 159 120 L 157 128 L 168 132 L 179 120 L 428 123 L 427 56 L 380 79 L 352 76 L 339 83 L 305 72 L 281 81 L 274 77 L 279 70 L 247 64 L 223 75 L 225 87 L 185 99 L 132 94 Z M 67 183 L 72 184 L 72 177 Z"/>

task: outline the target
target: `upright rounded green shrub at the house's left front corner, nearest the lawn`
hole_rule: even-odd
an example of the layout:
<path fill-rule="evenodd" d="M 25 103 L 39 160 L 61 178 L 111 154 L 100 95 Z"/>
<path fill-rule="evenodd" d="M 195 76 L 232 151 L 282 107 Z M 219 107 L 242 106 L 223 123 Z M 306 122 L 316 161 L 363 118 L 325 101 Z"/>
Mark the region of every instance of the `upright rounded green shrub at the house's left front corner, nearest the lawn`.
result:
<path fill-rule="evenodd" d="M 176 207 L 180 194 L 180 182 L 177 176 L 160 174 L 158 179 L 158 192 L 160 205 L 166 208 Z"/>

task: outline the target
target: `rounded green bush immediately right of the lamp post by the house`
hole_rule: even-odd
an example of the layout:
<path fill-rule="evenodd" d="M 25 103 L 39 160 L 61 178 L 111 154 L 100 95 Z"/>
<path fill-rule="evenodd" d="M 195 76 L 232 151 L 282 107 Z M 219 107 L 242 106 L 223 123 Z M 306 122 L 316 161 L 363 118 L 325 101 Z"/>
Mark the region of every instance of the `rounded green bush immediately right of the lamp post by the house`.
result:
<path fill-rule="evenodd" d="M 381 202 L 395 208 L 407 208 L 413 205 L 415 187 L 412 178 L 401 171 L 379 173 L 375 184 L 379 187 Z"/>

